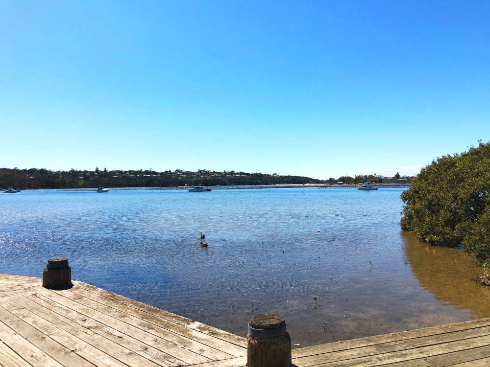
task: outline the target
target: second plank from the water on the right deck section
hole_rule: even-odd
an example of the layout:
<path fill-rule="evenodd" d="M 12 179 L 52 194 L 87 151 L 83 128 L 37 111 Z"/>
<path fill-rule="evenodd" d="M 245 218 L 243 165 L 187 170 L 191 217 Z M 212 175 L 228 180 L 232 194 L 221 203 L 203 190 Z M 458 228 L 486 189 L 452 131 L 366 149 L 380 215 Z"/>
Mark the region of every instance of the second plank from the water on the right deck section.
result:
<path fill-rule="evenodd" d="M 382 343 L 335 352 L 328 352 L 316 356 L 302 357 L 301 359 L 297 359 L 295 361 L 297 363 L 305 364 L 307 360 L 307 365 L 313 365 L 317 361 L 322 361 L 328 358 L 330 362 L 336 362 L 347 359 L 360 358 L 364 356 L 371 356 L 373 354 L 392 353 L 395 351 L 416 349 L 424 346 L 458 342 L 461 340 L 471 339 L 480 336 L 490 336 L 490 326 L 477 329 L 454 331 L 446 334 L 430 335 L 405 341 Z"/>

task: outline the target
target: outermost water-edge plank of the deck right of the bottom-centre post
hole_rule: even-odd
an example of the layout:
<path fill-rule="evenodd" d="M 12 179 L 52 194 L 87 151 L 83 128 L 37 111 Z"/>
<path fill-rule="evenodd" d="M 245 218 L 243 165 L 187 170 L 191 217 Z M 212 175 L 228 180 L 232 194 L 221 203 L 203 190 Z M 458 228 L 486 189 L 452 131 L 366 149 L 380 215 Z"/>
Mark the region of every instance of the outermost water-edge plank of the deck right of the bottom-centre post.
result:
<path fill-rule="evenodd" d="M 312 356 L 315 354 L 329 353 L 339 350 L 358 348 L 374 344 L 407 341 L 414 338 L 419 338 L 423 336 L 439 335 L 452 331 L 466 330 L 466 329 L 477 329 L 483 326 L 489 326 L 490 319 L 480 319 L 459 322 L 455 324 L 448 324 L 442 326 L 433 326 L 423 329 L 411 330 L 411 331 L 401 331 L 396 333 L 376 335 L 366 338 L 345 340 L 341 342 L 329 343 L 308 346 L 304 348 L 293 349 L 293 358 L 300 358 L 303 356 Z"/>

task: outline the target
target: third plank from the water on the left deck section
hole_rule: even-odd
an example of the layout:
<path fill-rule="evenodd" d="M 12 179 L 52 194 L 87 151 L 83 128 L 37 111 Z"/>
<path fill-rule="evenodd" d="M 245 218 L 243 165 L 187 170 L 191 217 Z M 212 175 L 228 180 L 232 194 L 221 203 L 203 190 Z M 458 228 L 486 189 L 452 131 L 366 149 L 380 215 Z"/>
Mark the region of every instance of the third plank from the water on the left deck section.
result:
<path fill-rule="evenodd" d="M 64 307 L 70 308 L 73 311 L 81 313 L 88 318 L 94 319 L 100 323 L 103 323 L 111 328 L 122 332 L 125 335 L 132 336 L 135 339 L 142 341 L 145 344 L 153 346 L 156 349 L 165 352 L 172 357 L 183 361 L 187 364 L 195 364 L 195 363 L 203 363 L 211 361 L 210 358 L 202 356 L 196 353 L 193 350 L 190 350 L 186 347 L 186 345 L 175 344 L 171 341 L 168 341 L 164 338 L 161 338 L 155 330 L 152 330 L 153 333 L 148 332 L 147 330 L 143 330 L 133 324 L 131 324 L 131 320 L 129 320 L 129 316 L 123 314 L 106 314 L 105 310 L 102 308 L 95 309 L 88 307 L 87 305 L 80 303 L 80 301 L 86 301 L 86 298 L 77 296 L 75 299 L 66 297 L 67 291 L 50 291 L 48 289 L 43 289 L 38 292 L 38 295 L 42 295 L 46 298 L 54 300 L 55 302 L 61 304 Z M 73 295 L 71 292 L 68 294 Z M 128 322 L 130 321 L 130 322 Z M 147 327 L 147 329 L 152 329 L 151 327 Z"/>

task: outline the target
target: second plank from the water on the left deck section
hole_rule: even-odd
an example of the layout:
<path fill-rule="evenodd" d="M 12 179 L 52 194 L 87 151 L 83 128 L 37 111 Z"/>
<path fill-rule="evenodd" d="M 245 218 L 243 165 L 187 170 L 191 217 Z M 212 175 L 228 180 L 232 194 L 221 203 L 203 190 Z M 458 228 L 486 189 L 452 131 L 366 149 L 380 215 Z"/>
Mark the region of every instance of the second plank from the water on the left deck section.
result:
<path fill-rule="evenodd" d="M 76 287 L 73 287 L 76 288 Z M 142 330 L 145 330 L 149 333 L 152 333 L 154 335 L 158 335 L 161 338 L 172 342 L 174 344 L 177 344 L 181 347 L 184 347 L 187 350 L 193 351 L 196 354 L 205 356 L 209 358 L 209 360 L 220 360 L 220 359 L 228 359 L 231 357 L 235 357 L 232 354 L 228 354 L 226 352 L 222 352 L 218 349 L 212 348 L 208 346 L 207 344 L 203 344 L 199 341 L 196 341 L 192 337 L 189 336 L 182 336 L 176 332 L 174 332 L 171 329 L 166 329 L 163 328 L 153 322 L 147 321 L 146 319 L 142 319 L 140 317 L 132 316 L 128 313 L 125 313 L 122 310 L 107 306 L 106 304 L 97 302 L 96 300 L 93 300 L 90 297 L 96 296 L 92 292 L 88 292 L 88 294 L 84 293 L 83 290 L 80 290 L 80 293 L 76 293 L 73 289 L 70 291 L 63 291 L 60 292 L 61 295 L 64 295 L 65 297 L 71 298 L 71 299 L 76 299 L 77 302 L 83 303 L 84 305 L 91 307 L 93 309 L 97 309 L 99 311 L 102 311 L 106 314 L 110 314 L 114 317 L 117 317 L 118 319 L 123 319 L 125 322 L 136 326 L 138 328 L 141 328 Z M 119 305 L 122 305 L 118 303 Z M 242 354 L 243 355 L 243 354 Z M 201 361 L 203 362 L 203 361 Z"/>

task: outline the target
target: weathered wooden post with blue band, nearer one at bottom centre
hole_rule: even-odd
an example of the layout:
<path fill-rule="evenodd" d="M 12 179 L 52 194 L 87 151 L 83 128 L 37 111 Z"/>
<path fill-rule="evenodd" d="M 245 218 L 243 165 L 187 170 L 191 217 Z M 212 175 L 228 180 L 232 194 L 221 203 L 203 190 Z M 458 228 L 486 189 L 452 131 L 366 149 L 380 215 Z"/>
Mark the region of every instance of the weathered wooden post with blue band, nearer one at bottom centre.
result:
<path fill-rule="evenodd" d="M 291 367 L 291 338 L 282 316 L 255 315 L 246 339 L 247 367 Z"/>

